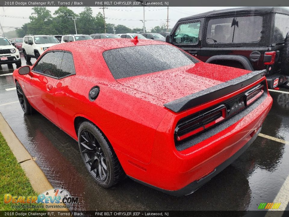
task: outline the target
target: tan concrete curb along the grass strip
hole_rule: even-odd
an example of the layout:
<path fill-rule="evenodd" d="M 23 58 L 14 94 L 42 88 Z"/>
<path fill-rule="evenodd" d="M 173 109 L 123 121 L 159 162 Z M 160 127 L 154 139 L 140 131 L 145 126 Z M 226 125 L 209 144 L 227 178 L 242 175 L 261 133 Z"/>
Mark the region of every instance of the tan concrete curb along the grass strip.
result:
<path fill-rule="evenodd" d="M 36 193 L 43 193 L 47 190 L 53 189 L 52 185 L 46 178 L 45 174 L 41 168 L 34 161 L 32 156 L 28 153 L 26 148 L 14 134 L 13 130 L 6 122 L 4 117 L 0 112 L 0 132 L 5 138 L 9 148 L 20 164 L 21 168 L 24 170 L 25 175 L 30 181 L 31 186 L 36 191 Z M 51 204 L 47 204 L 51 205 Z M 46 209 L 48 211 L 69 211 L 69 209 Z"/>

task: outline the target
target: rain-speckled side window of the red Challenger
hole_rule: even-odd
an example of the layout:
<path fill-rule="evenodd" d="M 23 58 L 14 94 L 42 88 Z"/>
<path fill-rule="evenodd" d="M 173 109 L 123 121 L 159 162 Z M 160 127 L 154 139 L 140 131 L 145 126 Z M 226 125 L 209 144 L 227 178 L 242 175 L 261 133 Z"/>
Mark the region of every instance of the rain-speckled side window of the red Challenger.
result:
<path fill-rule="evenodd" d="M 60 51 L 48 52 L 34 66 L 33 71 L 55 78 L 75 74 L 72 54 Z"/>

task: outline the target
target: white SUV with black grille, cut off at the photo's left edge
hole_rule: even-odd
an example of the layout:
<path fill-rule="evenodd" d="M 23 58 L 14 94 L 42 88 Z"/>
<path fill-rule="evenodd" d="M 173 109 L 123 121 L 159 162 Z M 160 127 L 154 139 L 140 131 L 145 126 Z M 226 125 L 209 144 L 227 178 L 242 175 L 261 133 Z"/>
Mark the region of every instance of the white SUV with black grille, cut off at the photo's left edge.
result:
<path fill-rule="evenodd" d="M 21 66 L 19 50 L 9 42 L 4 36 L 0 36 L 0 65 L 13 64 L 17 67 Z"/>

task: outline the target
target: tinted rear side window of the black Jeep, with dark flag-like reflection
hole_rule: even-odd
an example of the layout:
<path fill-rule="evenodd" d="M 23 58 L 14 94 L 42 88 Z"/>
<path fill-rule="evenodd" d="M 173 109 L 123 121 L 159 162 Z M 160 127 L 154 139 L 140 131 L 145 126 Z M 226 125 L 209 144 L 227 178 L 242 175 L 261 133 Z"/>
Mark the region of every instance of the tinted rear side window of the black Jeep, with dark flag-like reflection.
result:
<path fill-rule="evenodd" d="M 250 43 L 261 39 L 261 16 L 212 19 L 208 23 L 207 42 Z"/>

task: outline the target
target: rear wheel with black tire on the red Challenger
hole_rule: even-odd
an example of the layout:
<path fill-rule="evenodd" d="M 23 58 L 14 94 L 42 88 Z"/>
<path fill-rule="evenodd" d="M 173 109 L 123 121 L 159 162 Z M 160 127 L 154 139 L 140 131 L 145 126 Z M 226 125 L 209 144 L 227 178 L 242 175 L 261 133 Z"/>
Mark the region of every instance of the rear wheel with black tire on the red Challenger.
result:
<path fill-rule="evenodd" d="M 102 132 L 91 122 L 79 126 L 78 144 L 82 160 L 94 180 L 109 188 L 122 180 L 123 168 Z"/>

